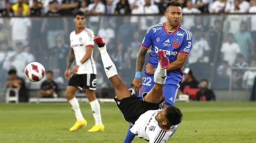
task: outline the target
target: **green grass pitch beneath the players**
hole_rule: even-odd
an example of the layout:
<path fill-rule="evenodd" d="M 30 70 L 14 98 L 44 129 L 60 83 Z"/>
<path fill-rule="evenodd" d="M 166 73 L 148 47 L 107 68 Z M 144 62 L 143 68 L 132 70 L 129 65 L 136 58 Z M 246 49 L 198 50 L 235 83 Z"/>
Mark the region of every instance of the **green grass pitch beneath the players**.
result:
<path fill-rule="evenodd" d="M 0 142 L 122 142 L 128 128 L 115 103 L 101 103 L 105 131 L 88 133 L 95 122 L 88 103 L 80 108 L 88 122 L 68 129 L 75 116 L 68 103 L 0 104 Z M 168 142 L 256 142 L 256 102 L 177 102 L 184 118 Z M 135 137 L 133 142 L 146 142 Z"/>

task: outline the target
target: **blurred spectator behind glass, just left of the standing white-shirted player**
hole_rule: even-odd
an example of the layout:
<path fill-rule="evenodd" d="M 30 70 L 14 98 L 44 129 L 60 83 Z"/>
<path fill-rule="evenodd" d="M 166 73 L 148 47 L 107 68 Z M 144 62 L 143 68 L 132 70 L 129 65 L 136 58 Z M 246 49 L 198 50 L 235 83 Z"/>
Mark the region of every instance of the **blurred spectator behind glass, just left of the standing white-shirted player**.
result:
<path fill-rule="evenodd" d="M 51 68 L 60 69 L 61 75 L 64 75 L 67 64 L 66 61 L 68 60 L 69 46 L 65 43 L 63 35 L 59 34 L 55 39 L 56 45 L 50 49 L 52 56 Z"/>

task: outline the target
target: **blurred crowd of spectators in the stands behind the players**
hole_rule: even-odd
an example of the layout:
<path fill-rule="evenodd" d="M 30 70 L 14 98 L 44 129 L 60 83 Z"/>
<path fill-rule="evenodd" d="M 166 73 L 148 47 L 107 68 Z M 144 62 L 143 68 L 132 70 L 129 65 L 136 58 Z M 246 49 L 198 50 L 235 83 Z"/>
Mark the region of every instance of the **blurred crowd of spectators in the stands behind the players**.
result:
<path fill-rule="evenodd" d="M 24 69 L 32 61 L 52 70 L 53 80 L 65 88 L 64 79 L 69 54 L 69 33 L 74 30 L 74 11 L 87 16 L 86 27 L 104 37 L 119 75 L 130 85 L 134 78 L 136 58 L 149 27 L 165 22 L 164 7 L 168 1 L 0 1 L 2 16 L 48 15 L 56 17 L 0 17 L 0 87 L 6 83 L 7 71 L 16 69 L 25 78 Z M 201 81 L 214 77 L 212 88 L 249 89 L 256 75 L 256 16 L 250 14 L 190 15 L 204 12 L 253 12 L 256 0 L 182 1 L 181 24 L 193 33 L 193 49 L 184 68 L 193 70 Z M 6 5 L 6 7 L 5 7 Z M 222 6 L 221 6 L 222 5 Z M 2 7 L 1 7 L 2 6 Z M 147 16 L 105 16 L 102 14 L 159 14 Z M 59 17 L 65 15 L 65 17 Z M 102 16 L 98 16 L 102 15 Z M 148 53 L 150 49 L 148 50 Z M 100 54 L 97 62 L 97 86 L 109 87 L 104 76 Z M 148 58 L 148 57 L 147 57 Z M 46 78 L 46 77 L 45 77 Z M 184 78 L 185 79 L 185 78 Z M 42 82 L 25 81 L 29 89 L 40 89 Z"/>

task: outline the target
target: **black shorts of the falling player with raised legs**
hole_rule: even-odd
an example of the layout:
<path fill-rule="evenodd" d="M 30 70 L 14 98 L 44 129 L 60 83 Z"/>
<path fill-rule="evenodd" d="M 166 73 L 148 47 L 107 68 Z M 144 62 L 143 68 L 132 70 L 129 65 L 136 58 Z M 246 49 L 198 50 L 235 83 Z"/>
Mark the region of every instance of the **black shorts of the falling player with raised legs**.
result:
<path fill-rule="evenodd" d="M 139 116 L 149 110 L 160 110 L 165 106 L 165 99 L 162 99 L 159 103 L 151 103 L 142 101 L 136 96 L 130 96 L 118 100 L 114 98 L 123 118 L 130 124 L 134 125 Z"/>

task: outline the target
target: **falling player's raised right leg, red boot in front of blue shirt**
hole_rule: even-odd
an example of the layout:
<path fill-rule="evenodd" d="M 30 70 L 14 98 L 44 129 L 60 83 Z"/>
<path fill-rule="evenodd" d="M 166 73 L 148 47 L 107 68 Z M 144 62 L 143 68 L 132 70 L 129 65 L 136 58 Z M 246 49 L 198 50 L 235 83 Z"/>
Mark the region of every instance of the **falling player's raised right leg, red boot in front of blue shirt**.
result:
<path fill-rule="evenodd" d="M 164 51 L 160 50 L 157 53 L 158 66 L 154 74 L 154 87 L 147 93 L 144 100 L 152 103 L 159 103 L 164 99 L 164 84 L 166 82 L 166 69 L 169 67 L 169 59 L 165 56 Z"/>

